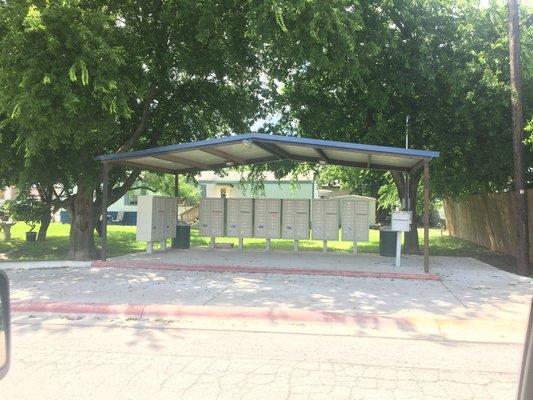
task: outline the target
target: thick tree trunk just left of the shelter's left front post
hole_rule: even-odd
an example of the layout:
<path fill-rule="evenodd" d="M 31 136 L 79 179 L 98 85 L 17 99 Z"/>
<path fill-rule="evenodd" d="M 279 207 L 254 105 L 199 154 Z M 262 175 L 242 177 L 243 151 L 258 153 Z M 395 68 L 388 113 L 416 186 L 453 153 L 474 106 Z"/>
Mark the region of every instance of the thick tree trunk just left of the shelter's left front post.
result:
<path fill-rule="evenodd" d="M 72 260 L 92 260 L 98 257 L 94 245 L 93 189 L 78 182 L 78 191 L 70 207 L 70 250 Z"/>

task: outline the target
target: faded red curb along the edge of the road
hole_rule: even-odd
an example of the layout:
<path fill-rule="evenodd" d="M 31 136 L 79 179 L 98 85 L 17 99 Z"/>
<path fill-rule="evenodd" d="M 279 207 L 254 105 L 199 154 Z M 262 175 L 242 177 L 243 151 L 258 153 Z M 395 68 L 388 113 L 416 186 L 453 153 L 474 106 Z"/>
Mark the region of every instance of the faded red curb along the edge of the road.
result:
<path fill-rule="evenodd" d="M 255 319 L 292 322 L 324 322 L 379 328 L 384 323 L 394 322 L 402 330 L 415 329 L 415 324 L 407 318 L 384 317 L 369 314 L 346 314 L 329 311 L 312 311 L 266 307 L 226 307 L 174 304 L 109 304 L 109 303 L 70 303 L 70 302 L 15 302 L 11 311 L 48 312 L 60 314 L 104 314 L 127 315 L 138 319 L 147 317 L 213 318 L 213 319 Z"/>

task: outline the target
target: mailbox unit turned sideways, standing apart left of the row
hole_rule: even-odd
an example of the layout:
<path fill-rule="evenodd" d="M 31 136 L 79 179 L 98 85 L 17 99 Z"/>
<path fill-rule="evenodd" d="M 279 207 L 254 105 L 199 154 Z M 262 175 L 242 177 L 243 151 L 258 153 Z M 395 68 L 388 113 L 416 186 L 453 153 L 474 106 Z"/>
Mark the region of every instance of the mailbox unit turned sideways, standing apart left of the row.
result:
<path fill-rule="evenodd" d="M 153 252 L 153 242 L 166 248 L 168 238 L 176 237 L 178 199 L 163 196 L 137 198 L 137 240 L 146 242 L 146 252 Z"/>

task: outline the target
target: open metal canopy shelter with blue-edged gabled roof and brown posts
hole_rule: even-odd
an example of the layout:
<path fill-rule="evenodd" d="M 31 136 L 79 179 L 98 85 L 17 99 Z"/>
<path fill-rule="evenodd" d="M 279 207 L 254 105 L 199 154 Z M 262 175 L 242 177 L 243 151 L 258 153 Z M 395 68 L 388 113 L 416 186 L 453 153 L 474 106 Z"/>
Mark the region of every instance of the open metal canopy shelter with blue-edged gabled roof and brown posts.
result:
<path fill-rule="evenodd" d="M 424 270 L 429 271 L 429 161 L 438 152 L 294 136 L 245 133 L 215 139 L 96 157 L 103 163 L 102 215 L 107 215 L 110 165 L 173 174 L 238 165 L 293 160 L 411 174 L 424 168 Z M 177 179 L 177 178 L 176 178 Z M 107 218 L 102 218 L 102 259 L 106 259 Z"/>

